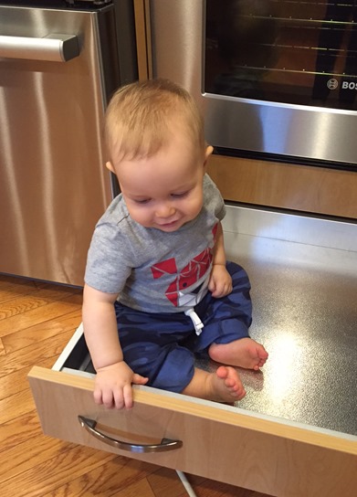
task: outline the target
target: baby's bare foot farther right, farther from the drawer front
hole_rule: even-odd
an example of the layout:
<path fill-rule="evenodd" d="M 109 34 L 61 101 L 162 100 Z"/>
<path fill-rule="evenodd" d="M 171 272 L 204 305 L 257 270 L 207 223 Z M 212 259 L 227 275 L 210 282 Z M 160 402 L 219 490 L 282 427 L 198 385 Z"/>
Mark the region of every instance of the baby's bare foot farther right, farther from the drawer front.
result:
<path fill-rule="evenodd" d="M 208 354 L 217 363 L 256 371 L 265 365 L 268 359 L 268 352 L 263 345 L 249 337 L 240 338 L 229 344 L 212 344 Z"/>

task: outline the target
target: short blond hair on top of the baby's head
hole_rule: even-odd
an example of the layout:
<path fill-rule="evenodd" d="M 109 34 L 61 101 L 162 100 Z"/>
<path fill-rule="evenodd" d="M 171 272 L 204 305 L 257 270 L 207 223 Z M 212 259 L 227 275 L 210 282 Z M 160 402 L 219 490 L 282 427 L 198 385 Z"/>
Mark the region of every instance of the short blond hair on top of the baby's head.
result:
<path fill-rule="evenodd" d="M 174 127 L 205 150 L 204 124 L 193 97 L 168 79 L 131 83 L 117 90 L 105 120 L 110 161 L 150 157 L 169 143 Z"/>

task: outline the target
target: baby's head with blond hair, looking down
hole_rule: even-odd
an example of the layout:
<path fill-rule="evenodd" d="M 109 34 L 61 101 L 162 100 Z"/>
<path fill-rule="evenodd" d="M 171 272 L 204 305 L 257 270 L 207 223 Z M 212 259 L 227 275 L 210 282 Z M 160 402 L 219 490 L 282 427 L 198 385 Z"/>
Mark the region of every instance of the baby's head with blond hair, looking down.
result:
<path fill-rule="evenodd" d="M 205 164 L 203 122 L 193 98 L 165 79 L 118 90 L 107 111 L 107 167 L 117 175 L 131 218 L 176 231 L 200 213 Z"/>

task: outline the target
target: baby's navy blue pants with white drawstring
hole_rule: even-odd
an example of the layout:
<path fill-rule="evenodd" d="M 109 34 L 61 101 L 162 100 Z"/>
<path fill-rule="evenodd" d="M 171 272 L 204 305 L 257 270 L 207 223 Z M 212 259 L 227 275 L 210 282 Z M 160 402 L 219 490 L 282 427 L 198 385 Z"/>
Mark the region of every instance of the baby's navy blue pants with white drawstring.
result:
<path fill-rule="evenodd" d="M 208 291 L 194 307 L 205 325 L 199 336 L 184 312 L 141 312 L 115 302 L 124 361 L 135 373 L 149 377 L 147 385 L 182 392 L 194 376 L 194 354 L 206 353 L 214 343 L 249 336 L 252 303 L 247 273 L 234 262 L 227 262 L 226 269 L 232 292 L 215 299 Z"/>

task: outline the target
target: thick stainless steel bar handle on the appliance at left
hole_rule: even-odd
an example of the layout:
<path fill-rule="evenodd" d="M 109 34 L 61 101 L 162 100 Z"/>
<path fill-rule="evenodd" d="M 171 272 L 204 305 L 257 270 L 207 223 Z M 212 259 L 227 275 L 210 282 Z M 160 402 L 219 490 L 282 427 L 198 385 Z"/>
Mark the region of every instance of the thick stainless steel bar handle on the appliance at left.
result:
<path fill-rule="evenodd" d="M 67 62 L 79 56 L 79 41 L 74 35 L 47 35 L 42 38 L 0 35 L 0 58 L 24 58 Z"/>

